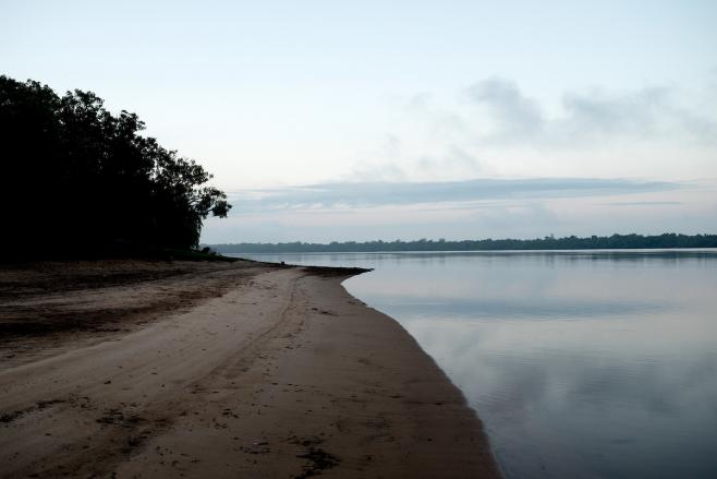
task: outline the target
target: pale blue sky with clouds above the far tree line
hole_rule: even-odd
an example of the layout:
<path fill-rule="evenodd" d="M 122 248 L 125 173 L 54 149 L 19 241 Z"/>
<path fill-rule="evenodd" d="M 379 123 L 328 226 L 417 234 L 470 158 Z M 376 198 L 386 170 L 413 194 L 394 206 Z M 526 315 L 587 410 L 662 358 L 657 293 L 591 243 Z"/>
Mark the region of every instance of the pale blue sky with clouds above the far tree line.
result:
<path fill-rule="evenodd" d="M 204 242 L 717 232 L 714 1 L 5 1 L 234 205 Z"/>

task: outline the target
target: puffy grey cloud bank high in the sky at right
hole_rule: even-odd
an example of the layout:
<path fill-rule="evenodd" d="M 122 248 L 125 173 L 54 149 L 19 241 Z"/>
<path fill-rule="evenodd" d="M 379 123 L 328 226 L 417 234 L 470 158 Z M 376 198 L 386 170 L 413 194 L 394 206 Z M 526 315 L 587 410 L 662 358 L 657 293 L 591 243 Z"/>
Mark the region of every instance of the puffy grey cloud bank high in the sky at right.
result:
<path fill-rule="evenodd" d="M 688 94 L 652 86 L 628 92 L 591 88 L 566 92 L 558 115 L 509 80 L 493 77 L 465 89 L 472 106 L 482 108 L 493 131 L 473 130 L 483 143 L 584 148 L 611 140 L 677 140 L 715 145 L 717 111 L 708 105 L 686 105 Z M 706 97 L 706 95 L 704 95 Z"/>

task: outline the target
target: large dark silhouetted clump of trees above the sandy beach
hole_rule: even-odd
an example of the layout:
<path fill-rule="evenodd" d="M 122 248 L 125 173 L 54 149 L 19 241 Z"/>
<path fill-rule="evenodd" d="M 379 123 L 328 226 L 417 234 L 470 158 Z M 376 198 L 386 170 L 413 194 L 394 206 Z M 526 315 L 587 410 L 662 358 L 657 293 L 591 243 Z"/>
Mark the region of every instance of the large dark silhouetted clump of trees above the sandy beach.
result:
<path fill-rule="evenodd" d="M 90 92 L 0 76 L 0 255 L 190 249 L 227 196 L 194 160 Z"/>

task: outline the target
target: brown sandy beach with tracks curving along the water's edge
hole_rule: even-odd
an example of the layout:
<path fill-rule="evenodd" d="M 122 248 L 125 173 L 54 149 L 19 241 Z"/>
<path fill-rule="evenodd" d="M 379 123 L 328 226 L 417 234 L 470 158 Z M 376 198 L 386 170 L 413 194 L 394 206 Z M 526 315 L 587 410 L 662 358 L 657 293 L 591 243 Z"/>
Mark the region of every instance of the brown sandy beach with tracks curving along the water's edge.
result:
<path fill-rule="evenodd" d="M 0 270 L 0 477 L 494 478 L 481 421 L 360 271 Z"/>

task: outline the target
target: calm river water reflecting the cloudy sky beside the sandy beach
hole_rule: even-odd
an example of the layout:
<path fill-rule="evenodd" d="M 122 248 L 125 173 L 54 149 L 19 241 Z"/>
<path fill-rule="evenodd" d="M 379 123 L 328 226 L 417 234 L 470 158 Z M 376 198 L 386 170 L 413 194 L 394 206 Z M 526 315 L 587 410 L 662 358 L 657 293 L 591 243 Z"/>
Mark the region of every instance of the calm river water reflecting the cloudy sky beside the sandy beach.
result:
<path fill-rule="evenodd" d="M 509 478 L 717 478 L 717 250 L 252 256 L 375 268 Z"/>

